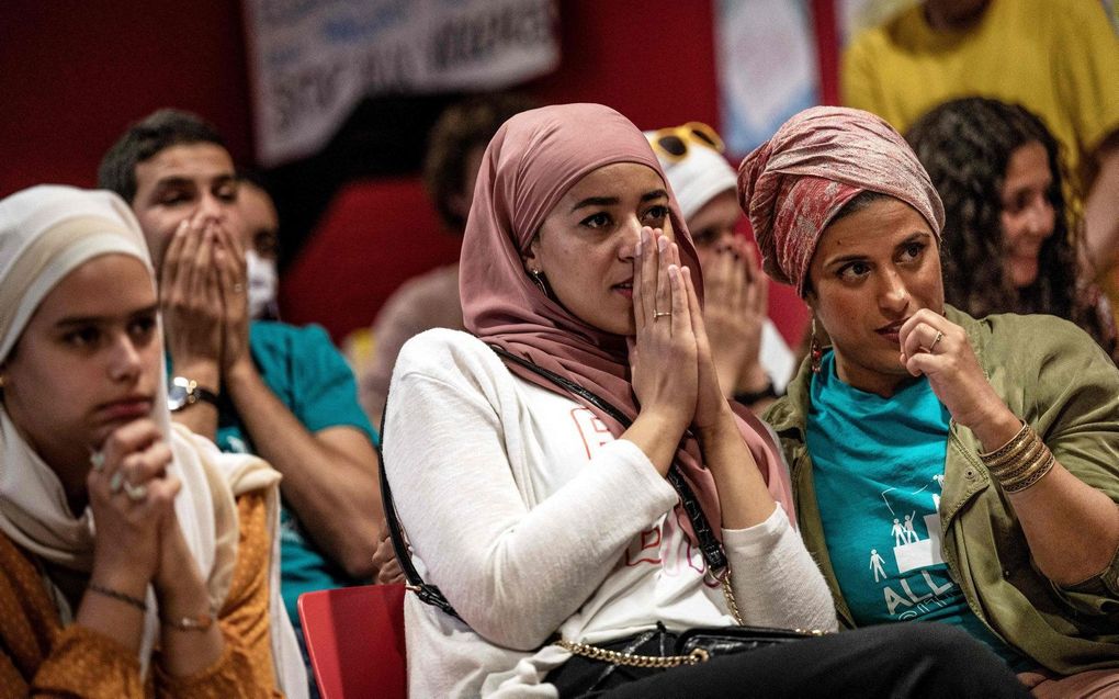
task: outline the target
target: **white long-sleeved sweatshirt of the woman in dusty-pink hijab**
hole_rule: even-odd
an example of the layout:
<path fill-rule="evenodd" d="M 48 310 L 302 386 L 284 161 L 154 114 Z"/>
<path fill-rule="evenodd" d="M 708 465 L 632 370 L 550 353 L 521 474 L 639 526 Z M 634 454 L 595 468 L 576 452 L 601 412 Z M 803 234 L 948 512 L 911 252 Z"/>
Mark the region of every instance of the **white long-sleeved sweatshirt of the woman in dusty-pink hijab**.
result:
<path fill-rule="evenodd" d="M 632 442 L 511 375 L 473 336 L 430 330 L 393 372 L 385 466 L 415 551 L 469 626 L 405 598 L 413 697 L 555 697 L 543 683 L 589 643 L 662 622 L 733 624 L 683 533 L 677 495 Z M 836 626 L 824 577 L 779 507 L 723 530 L 747 624 Z"/>

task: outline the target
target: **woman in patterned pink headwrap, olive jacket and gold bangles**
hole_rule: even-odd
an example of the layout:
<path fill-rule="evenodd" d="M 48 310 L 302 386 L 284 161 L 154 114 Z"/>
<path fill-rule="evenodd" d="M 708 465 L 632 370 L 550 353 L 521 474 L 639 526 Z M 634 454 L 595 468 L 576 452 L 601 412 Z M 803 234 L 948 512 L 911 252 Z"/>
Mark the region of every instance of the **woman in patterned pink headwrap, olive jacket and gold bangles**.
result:
<path fill-rule="evenodd" d="M 942 621 L 1042 696 L 1119 690 L 1115 365 L 1069 322 L 944 303 L 940 198 L 874 115 L 798 114 L 739 196 L 831 342 L 767 418 L 841 625 Z"/>

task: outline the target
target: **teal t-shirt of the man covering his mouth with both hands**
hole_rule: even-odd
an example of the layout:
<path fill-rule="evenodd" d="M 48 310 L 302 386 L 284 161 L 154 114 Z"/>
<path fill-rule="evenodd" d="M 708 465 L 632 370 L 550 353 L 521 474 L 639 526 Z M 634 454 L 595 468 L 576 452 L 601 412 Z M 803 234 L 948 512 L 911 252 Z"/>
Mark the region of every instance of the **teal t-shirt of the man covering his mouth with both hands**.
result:
<path fill-rule="evenodd" d="M 376 444 L 376 433 L 358 404 L 354 372 L 322 328 L 254 321 L 248 348 L 261 378 L 309 432 L 349 426 Z M 226 396 L 218 408 L 216 442 L 223 452 L 256 453 Z M 350 579 L 323 556 L 284 502 L 280 510 L 280 592 L 297 630 L 300 622 L 295 603 L 301 594 L 368 582 Z"/>

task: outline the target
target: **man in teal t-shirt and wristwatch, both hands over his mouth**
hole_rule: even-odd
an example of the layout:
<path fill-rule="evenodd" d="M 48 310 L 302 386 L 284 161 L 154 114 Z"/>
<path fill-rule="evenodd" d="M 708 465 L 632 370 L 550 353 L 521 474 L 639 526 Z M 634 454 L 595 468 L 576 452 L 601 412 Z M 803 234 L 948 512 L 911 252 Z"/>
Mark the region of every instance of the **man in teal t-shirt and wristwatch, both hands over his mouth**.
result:
<path fill-rule="evenodd" d="M 283 474 L 282 585 L 299 594 L 373 573 L 380 504 L 375 435 L 321 328 L 251 321 L 238 180 L 217 132 L 172 110 L 132 125 L 100 186 L 130 202 L 159 275 L 172 416 Z"/>

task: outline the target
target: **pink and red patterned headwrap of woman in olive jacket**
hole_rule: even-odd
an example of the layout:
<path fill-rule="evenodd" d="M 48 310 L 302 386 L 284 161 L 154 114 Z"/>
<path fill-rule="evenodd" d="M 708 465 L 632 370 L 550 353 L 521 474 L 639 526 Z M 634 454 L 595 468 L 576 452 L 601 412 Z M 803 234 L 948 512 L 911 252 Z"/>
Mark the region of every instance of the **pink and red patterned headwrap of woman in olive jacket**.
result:
<path fill-rule="evenodd" d="M 890 124 L 869 112 L 831 106 L 787 121 L 739 167 L 739 204 L 750 217 L 765 272 L 803 296 L 824 229 L 865 190 L 909 204 L 940 237 L 940 195 Z"/>

